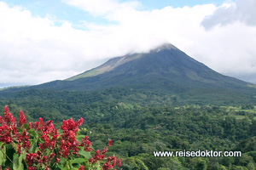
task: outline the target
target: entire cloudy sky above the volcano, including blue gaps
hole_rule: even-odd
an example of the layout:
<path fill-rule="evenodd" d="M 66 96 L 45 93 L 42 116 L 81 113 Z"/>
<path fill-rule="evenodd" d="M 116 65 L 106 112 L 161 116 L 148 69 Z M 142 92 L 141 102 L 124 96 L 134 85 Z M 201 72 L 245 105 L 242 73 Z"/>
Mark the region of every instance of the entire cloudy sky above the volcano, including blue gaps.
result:
<path fill-rule="evenodd" d="M 255 0 L 0 0 L 0 88 L 63 80 L 170 42 L 256 83 Z"/>

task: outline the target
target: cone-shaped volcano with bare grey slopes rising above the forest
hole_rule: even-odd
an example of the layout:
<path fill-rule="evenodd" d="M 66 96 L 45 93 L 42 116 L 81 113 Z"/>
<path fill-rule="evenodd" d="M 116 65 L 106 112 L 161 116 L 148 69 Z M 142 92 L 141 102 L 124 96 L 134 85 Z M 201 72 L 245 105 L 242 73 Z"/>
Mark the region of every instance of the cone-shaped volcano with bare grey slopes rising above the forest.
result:
<path fill-rule="evenodd" d="M 90 71 L 67 80 L 30 88 L 96 91 L 108 88 L 141 89 L 202 101 L 255 99 L 253 84 L 212 71 L 172 44 L 148 53 L 127 54 L 109 59 Z"/>

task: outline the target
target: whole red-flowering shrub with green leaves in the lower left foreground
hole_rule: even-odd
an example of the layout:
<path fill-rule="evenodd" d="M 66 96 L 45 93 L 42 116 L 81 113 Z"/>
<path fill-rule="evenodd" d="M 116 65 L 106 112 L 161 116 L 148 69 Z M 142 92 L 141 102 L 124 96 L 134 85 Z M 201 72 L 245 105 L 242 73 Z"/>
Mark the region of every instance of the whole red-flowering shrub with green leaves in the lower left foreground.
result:
<path fill-rule="evenodd" d="M 108 146 L 96 150 L 91 156 L 88 136 L 80 134 L 79 126 L 83 118 L 75 122 L 72 118 L 63 121 L 61 129 L 55 128 L 53 121 L 26 123 L 26 116 L 20 111 L 19 125 L 7 106 L 4 116 L 0 116 L 0 169 L 113 169 L 121 166 L 116 156 L 106 157 Z"/>

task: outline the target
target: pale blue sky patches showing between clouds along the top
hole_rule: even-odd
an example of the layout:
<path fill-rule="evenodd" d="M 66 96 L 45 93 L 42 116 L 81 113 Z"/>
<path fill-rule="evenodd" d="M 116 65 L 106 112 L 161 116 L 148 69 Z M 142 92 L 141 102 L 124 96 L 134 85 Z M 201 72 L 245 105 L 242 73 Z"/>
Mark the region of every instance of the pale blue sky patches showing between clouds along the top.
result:
<path fill-rule="evenodd" d="M 86 20 L 88 22 L 94 22 L 99 25 L 108 25 L 113 22 L 106 20 L 102 17 L 90 14 L 87 11 L 63 3 L 61 0 L 44 0 L 44 1 L 32 1 L 32 0 L 3 0 L 8 3 L 9 6 L 21 6 L 31 11 L 33 16 L 47 17 L 52 16 L 55 20 L 55 25 L 60 26 L 62 20 L 68 20 L 73 23 L 73 27 L 78 29 L 85 29 L 80 26 L 81 21 Z M 119 1 L 120 3 L 126 2 L 125 0 Z M 153 10 L 161 9 L 166 6 L 172 6 L 173 8 L 183 8 L 184 6 L 193 7 L 195 5 L 201 5 L 206 3 L 212 3 L 217 6 L 224 3 L 224 0 L 139 0 L 141 7 L 138 10 Z"/>

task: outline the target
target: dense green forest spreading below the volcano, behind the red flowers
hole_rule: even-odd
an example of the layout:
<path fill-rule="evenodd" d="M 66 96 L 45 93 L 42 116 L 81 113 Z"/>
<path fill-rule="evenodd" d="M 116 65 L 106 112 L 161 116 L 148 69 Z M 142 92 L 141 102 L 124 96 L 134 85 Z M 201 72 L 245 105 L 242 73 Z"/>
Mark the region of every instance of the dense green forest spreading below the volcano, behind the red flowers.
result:
<path fill-rule="evenodd" d="M 1 95 L 18 116 L 61 123 L 84 118 L 84 134 L 94 148 L 113 139 L 109 155 L 123 159 L 124 170 L 255 169 L 256 108 L 253 103 L 197 105 L 175 95 L 126 88 L 97 92 L 29 89 Z M 103 136 L 103 137 L 102 137 Z M 241 150 L 241 157 L 154 157 L 153 151 Z"/>

